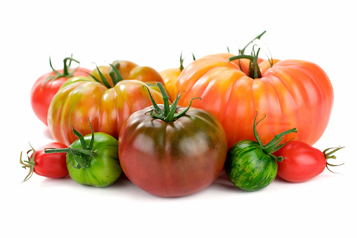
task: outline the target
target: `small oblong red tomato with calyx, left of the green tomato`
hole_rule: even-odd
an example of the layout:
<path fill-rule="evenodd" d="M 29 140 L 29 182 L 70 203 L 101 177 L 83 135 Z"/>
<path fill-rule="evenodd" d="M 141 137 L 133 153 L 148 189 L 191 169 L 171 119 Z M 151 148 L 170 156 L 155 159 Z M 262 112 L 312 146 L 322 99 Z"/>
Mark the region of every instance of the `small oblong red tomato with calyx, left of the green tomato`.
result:
<path fill-rule="evenodd" d="M 21 152 L 20 164 L 22 164 L 22 168 L 29 168 L 29 173 L 22 182 L 31 178 L 33 173 L 46 178 L 63 178 L 68 175 L 66 155 L 62 153 L 46 154 L 45 148 L 67 148 L 67 146 L 54 142 L 43 145 L 37 150 L 32 147 L 32 150 L 27 151 L 27 154 L 32 151 L 30 156 L 27 155 L 28 161 L 22 161 Z"/>

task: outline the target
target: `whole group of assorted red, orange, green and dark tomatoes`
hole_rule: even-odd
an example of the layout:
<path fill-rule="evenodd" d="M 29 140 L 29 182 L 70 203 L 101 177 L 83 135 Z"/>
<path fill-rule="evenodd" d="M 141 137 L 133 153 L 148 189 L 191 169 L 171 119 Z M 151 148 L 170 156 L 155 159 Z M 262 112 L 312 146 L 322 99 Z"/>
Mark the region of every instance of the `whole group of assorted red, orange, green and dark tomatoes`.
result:
<path fill-rule="evenodd" d="M 276 176 L 314 178 L 335 158 L 312 147 L 325 131 L 332 84 L 318 65 L 218 53 L 156 72 L 116 60 L 93 70 L 44 74 L 34 84 L 34 113 L 50 143 L 22 161 L 49 178 L 106 187 L 121 173 L 143 190 L 180 197 L 208 187 L 225 168 L 243 190 Z M 51 66 L 52 67 L 52 66 Z M 256 122 L 258 114 L 266 117 Z M 257 124 L 260 124 L 259 134 Z"/>

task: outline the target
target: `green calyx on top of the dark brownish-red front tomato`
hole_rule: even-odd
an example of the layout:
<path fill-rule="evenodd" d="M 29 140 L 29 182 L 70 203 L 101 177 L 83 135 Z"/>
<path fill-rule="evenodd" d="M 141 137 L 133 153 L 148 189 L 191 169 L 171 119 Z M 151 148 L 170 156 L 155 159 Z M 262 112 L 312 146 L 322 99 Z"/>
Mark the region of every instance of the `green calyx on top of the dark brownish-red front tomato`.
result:
<path fill-rule="evenodd" d="M 171 121 L 177 119 L 178 117 L 181 117 L 183 114 L 185 114 L 189 110 L 189 107 L 191 107 L 192 100 L 196 99 L 196 98 L 192 98 L 191 101 L 189 102 L 189 107 L 187 107 L 185 110 L 182 110 L 181 112 L 176 113 L 177 103 L 180 100 L 180 97 L 183 92 L 182 93 L 177 92 L 177 98 L 173 102 L 173 104 L 170 106 L 170 103 L 168 101 L 168 94 L 166 93 L 165 88 L 163 88 L 163 85 L 160 82 L 157 83 L 157 86 L 159 86 L 161 94 L 163 95 L 163 110 L 161 110 L 161 108 L 155 103 L 155 100 L 154 100 L 154 98 L 152 98 L 149 88 L 147 86 L 144 86 L 145 88 L 147 88 L 147 91 L 149 92 L 149 96 L 151 99 L 151 103 L 154 106 L 154 110 L 150 111 L 150 115 L 157 119 L 161 119 L 166 122 L 171 122 Z M 201 99 L 201 98 L 199 98 L 199 99 Z"/>

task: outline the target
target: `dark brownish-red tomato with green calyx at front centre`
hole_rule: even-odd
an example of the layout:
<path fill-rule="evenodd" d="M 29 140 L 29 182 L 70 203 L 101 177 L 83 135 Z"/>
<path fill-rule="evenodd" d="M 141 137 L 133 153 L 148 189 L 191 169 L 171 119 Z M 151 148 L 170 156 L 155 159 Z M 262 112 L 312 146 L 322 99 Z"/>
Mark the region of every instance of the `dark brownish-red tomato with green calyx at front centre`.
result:
<path fill-rule="evenodd" d="M 181 197 L 208 187 L 220 175 L 227 139 L 220 121 L 205 110 L 164 105 L 130 115 L 119 135 L 119 160 L 128 179 L 161 197 Z"/>

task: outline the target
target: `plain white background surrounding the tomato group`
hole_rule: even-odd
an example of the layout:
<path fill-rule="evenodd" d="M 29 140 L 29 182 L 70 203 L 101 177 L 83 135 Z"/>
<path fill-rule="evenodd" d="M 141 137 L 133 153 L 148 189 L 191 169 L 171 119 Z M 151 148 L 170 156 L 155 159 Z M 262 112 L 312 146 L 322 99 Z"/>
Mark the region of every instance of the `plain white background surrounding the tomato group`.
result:
<path fill-rule="evenodd" d="M 356 12 L 353 1 L 4 1 L 1 27 L 1 237 L 356 237 Z M 224 174 L 187 197 L 155 197 L 120 178 L 98 189 L 27 171 L 20 152 L 53 141 L 32 112 L 34 81 L 73 53 L 81 66 L 132 60 L 161 71 L 238 53 L 264 30 L 279 59 L 309 60 L 335 90 L 314 145 L 345 146 L 335 168 L 306 183 L 274 180 L 257 192 Z M 262 56 L 264 56 L 262 54 Z M 334 162 L 334 161 L 332 161 Z M 5 220 L 4 220 L 5 218 Z M 8 233 L 10 232 L 10 233 Z M 7 234 L 7 235 L 5 235 Z"/>

